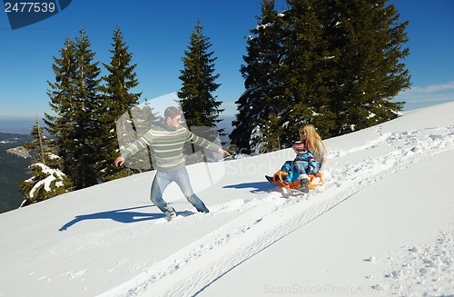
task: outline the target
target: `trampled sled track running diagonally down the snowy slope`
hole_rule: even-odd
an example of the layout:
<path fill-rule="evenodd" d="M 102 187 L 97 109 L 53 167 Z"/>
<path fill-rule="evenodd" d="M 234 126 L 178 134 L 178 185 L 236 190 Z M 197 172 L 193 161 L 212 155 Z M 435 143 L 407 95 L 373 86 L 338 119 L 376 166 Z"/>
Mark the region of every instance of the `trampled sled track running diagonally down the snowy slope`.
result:
<path fill-rule="evenodd" d="M 272 243 L 301 228 L 354 193 L 414 163 L 429 160 L 454 148 L 454 126 L 381 134 L 349 151 L 329 153 L 331 174 L 326 183 L 306 196 L 281 199 L 280 193 L 252 193 L 250 201 L 212 207 L 217 212 L 242 209 L 232 221 L 200 240 L 153 264 L 129 282 L 101 294 L 107 296 L 194 296 L 203 288 L 247 261 Z M 341 163 L 351 153 L 369 156 Z M 384 153 L 383 153 L 384 152 Z M 183 220 L 197 220 L 187 217 Z"/>

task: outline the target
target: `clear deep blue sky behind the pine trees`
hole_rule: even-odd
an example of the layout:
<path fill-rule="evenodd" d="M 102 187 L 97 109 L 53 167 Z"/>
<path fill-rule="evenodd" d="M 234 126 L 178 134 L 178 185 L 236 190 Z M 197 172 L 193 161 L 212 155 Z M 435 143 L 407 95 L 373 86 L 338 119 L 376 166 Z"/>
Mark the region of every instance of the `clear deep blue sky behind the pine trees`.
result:
<path fill-rule="evenodd" d="M 284 0 L 277 0 L 279 10 Z M 412 88 L 399 94 L 405 110 L 454 101 L 454 1 L 392 0 L 400 21 L 410 20 L 407 29 Z M 62 12 L 42 22 L 11 30 L 0 11 L 0 122 L 35 119 L 51 113 L 47 81 L 54 82 L 53 57 L 59 56 L 67 37 L 74 39 L 84 25 L 96 53 L 94 61 L 110 63 L 116 25 L 133 53 L 139 79 L 138 92 L 153 99 L 181 88 L 180 70 L 198 18 L 203 34 L 211 38 L 217 57 L 216 73 L 222 84 L 216 95 L 225 113 L 235 114 L 234 102 L 243 93 L 240 66 L 246 54 L 244 36 L 257 25 L 260 0 L 73 0 Z M 103 74 L 105 73 L 104 67 Z"/>

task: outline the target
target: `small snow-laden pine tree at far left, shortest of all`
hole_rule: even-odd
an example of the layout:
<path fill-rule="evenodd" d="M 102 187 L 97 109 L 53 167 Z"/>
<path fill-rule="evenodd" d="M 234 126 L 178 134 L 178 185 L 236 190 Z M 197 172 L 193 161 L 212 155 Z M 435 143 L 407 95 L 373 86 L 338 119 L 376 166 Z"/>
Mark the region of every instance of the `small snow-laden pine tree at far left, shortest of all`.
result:
<path fill-rule="evenodd" d="M 73 190 L 73 184 L 61 171 L 63 159 L 55 154 L 54 141 L 43 135 L 37 117 L 31 135 L 34 140 L 24 147 L 32 155 L 33 161 L 28 168 L 34 176 L 19 184 L 25 197 L 21 207 Z"/>

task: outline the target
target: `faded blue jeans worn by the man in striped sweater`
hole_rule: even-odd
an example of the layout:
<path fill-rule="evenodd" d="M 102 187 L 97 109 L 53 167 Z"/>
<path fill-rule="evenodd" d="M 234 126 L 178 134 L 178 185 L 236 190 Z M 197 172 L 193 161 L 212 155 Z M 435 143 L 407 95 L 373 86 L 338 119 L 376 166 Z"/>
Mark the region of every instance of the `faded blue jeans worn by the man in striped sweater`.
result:
<path fill-rule="evenodd" d="M 189 174 L 185 167 L 169 173 L 156 172 L 154 175 L 150 200 L 163 213 L 172 213 L 173 208 L 163 200 L 163 192 L 170 183 L 177 183 L 182 190 L 184 197 L 191 203 L 198 212 L 208 213 L 208 209 L 199 197 L 192 191 Z"/>

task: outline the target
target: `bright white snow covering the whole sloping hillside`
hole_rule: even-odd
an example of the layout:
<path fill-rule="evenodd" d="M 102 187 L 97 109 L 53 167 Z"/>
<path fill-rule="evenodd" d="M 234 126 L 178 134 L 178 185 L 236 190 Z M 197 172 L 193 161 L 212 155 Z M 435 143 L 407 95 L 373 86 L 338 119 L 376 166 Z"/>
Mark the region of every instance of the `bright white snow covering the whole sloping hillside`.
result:
<path fill-rule="evenodd" d="M 263 179 L 285 149 L 188 166 L 211 213 L 172 185 L 172 222 L 153 172 L 2 213 L 0 296 L 451 296 L 453 112 L 326 140 L 326 183 L 304 196 Z"/>

